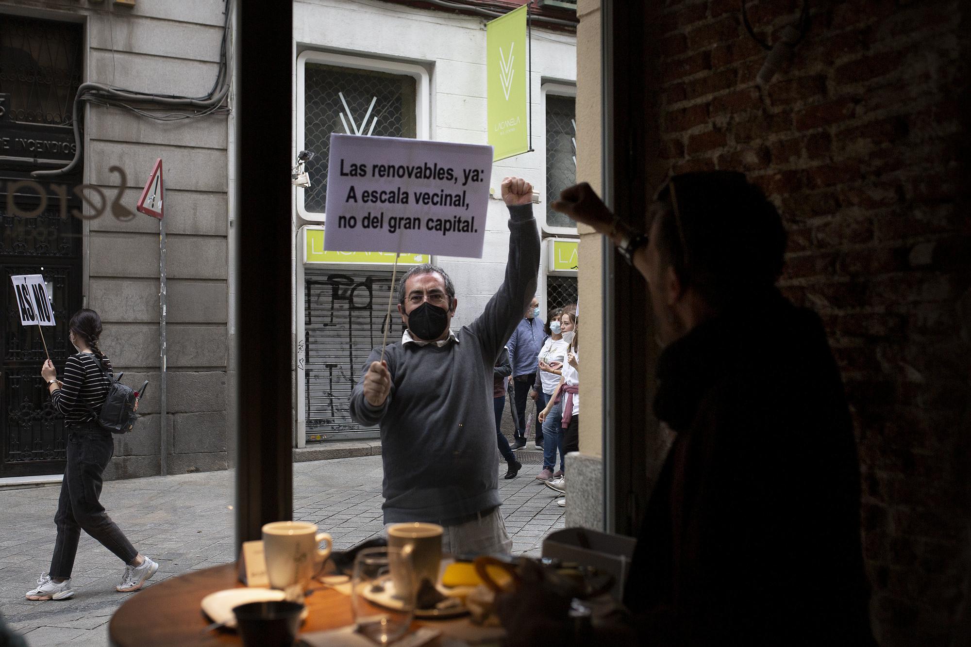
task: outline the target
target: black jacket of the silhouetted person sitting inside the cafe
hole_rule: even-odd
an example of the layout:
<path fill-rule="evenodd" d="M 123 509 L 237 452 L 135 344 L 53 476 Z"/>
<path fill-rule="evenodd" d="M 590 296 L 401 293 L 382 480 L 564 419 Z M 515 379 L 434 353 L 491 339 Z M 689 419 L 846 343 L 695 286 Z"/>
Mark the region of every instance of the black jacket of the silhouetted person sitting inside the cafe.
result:
<path fill-rule="evenodd" d="M 647 644 L 870 645 L 859 466 L 819 317 L 777 292 L 662 352 L 676 439 L 625 602 Z"/>

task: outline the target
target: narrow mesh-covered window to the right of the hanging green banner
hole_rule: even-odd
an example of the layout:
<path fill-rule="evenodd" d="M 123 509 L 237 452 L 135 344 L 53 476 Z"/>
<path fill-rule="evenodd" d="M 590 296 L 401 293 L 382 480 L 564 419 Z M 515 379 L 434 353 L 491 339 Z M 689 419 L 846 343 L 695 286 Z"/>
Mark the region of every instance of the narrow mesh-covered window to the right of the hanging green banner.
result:
<path fill-rule="evenodd" d="M 547 95 L 547 224 L 575 227 L 573 220 L 550 204 L 577 182 L 577 100 Z"/>

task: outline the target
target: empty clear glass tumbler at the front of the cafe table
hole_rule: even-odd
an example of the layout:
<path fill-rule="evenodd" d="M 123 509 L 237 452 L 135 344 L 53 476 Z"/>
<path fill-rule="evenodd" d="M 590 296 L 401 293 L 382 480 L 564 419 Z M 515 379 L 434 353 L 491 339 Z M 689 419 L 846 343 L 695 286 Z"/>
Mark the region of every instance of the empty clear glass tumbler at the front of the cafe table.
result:
<path fill-rule="evenodd" d="M 414 584 L 410 555 L 392 547 L 366 548 L 354 559 L 351 605 L 357 631 L 379 645 L 408 631 L 415 617 L 415 587 L 396 591 L 391 579 Z M 403 577 L 398 577 L 402 574 Z"/>

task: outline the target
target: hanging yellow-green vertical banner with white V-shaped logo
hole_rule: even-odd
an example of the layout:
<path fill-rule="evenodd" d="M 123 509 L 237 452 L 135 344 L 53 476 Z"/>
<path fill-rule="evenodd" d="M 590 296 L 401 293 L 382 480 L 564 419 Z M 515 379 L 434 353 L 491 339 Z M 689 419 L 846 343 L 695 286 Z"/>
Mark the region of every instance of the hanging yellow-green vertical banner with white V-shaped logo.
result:
<path fill-rule="evenodd" d="M 486 112 L 492 161 L 529 150 L 526 5 L 485 25 Z"/>

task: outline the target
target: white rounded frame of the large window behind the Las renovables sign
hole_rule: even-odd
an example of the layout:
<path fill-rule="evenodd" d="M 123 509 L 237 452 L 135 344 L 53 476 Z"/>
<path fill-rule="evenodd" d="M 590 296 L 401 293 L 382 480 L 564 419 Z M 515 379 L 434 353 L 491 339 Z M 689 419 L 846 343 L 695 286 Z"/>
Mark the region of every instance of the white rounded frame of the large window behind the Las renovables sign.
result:
<path fill-rule="evenodd" d="M 318 49 L 307 49 L 300 52 L 297 56 L 297 97 L 296 97 L 296 144 L 293 147 L 293 159 L 296 153 L 306 148 L 306 128 L 304 119 L 306 118 L 305 103 L 306 82 L 307 82 L 307 63 L 318 63 L 321 65 L 332 65 L 347 70 L 368 70 L 371 72 L 385 72 L 386 74 L 396 74 L 412 77 L 416 81 L 415 87 L 415 136 L 419 140 L 431 139 L 431 106 L 430 88 L 431 75 L 424 67 L 417 63 L 406 63 L 404 61 L 369 58 L 366 56 L 356 56 L 353 54 L 340 54 L 332 51 L 320 51 Z M 313 178 L 312 178 L 313 181 Z M 322 224 L 326 222 L 326 213 L 322 211 L 308 211 L 305 207 L 305 192 L 299 187 L 293 187 L 293 202 L 296 205 L 297 215 L 308 223 Z"/>

